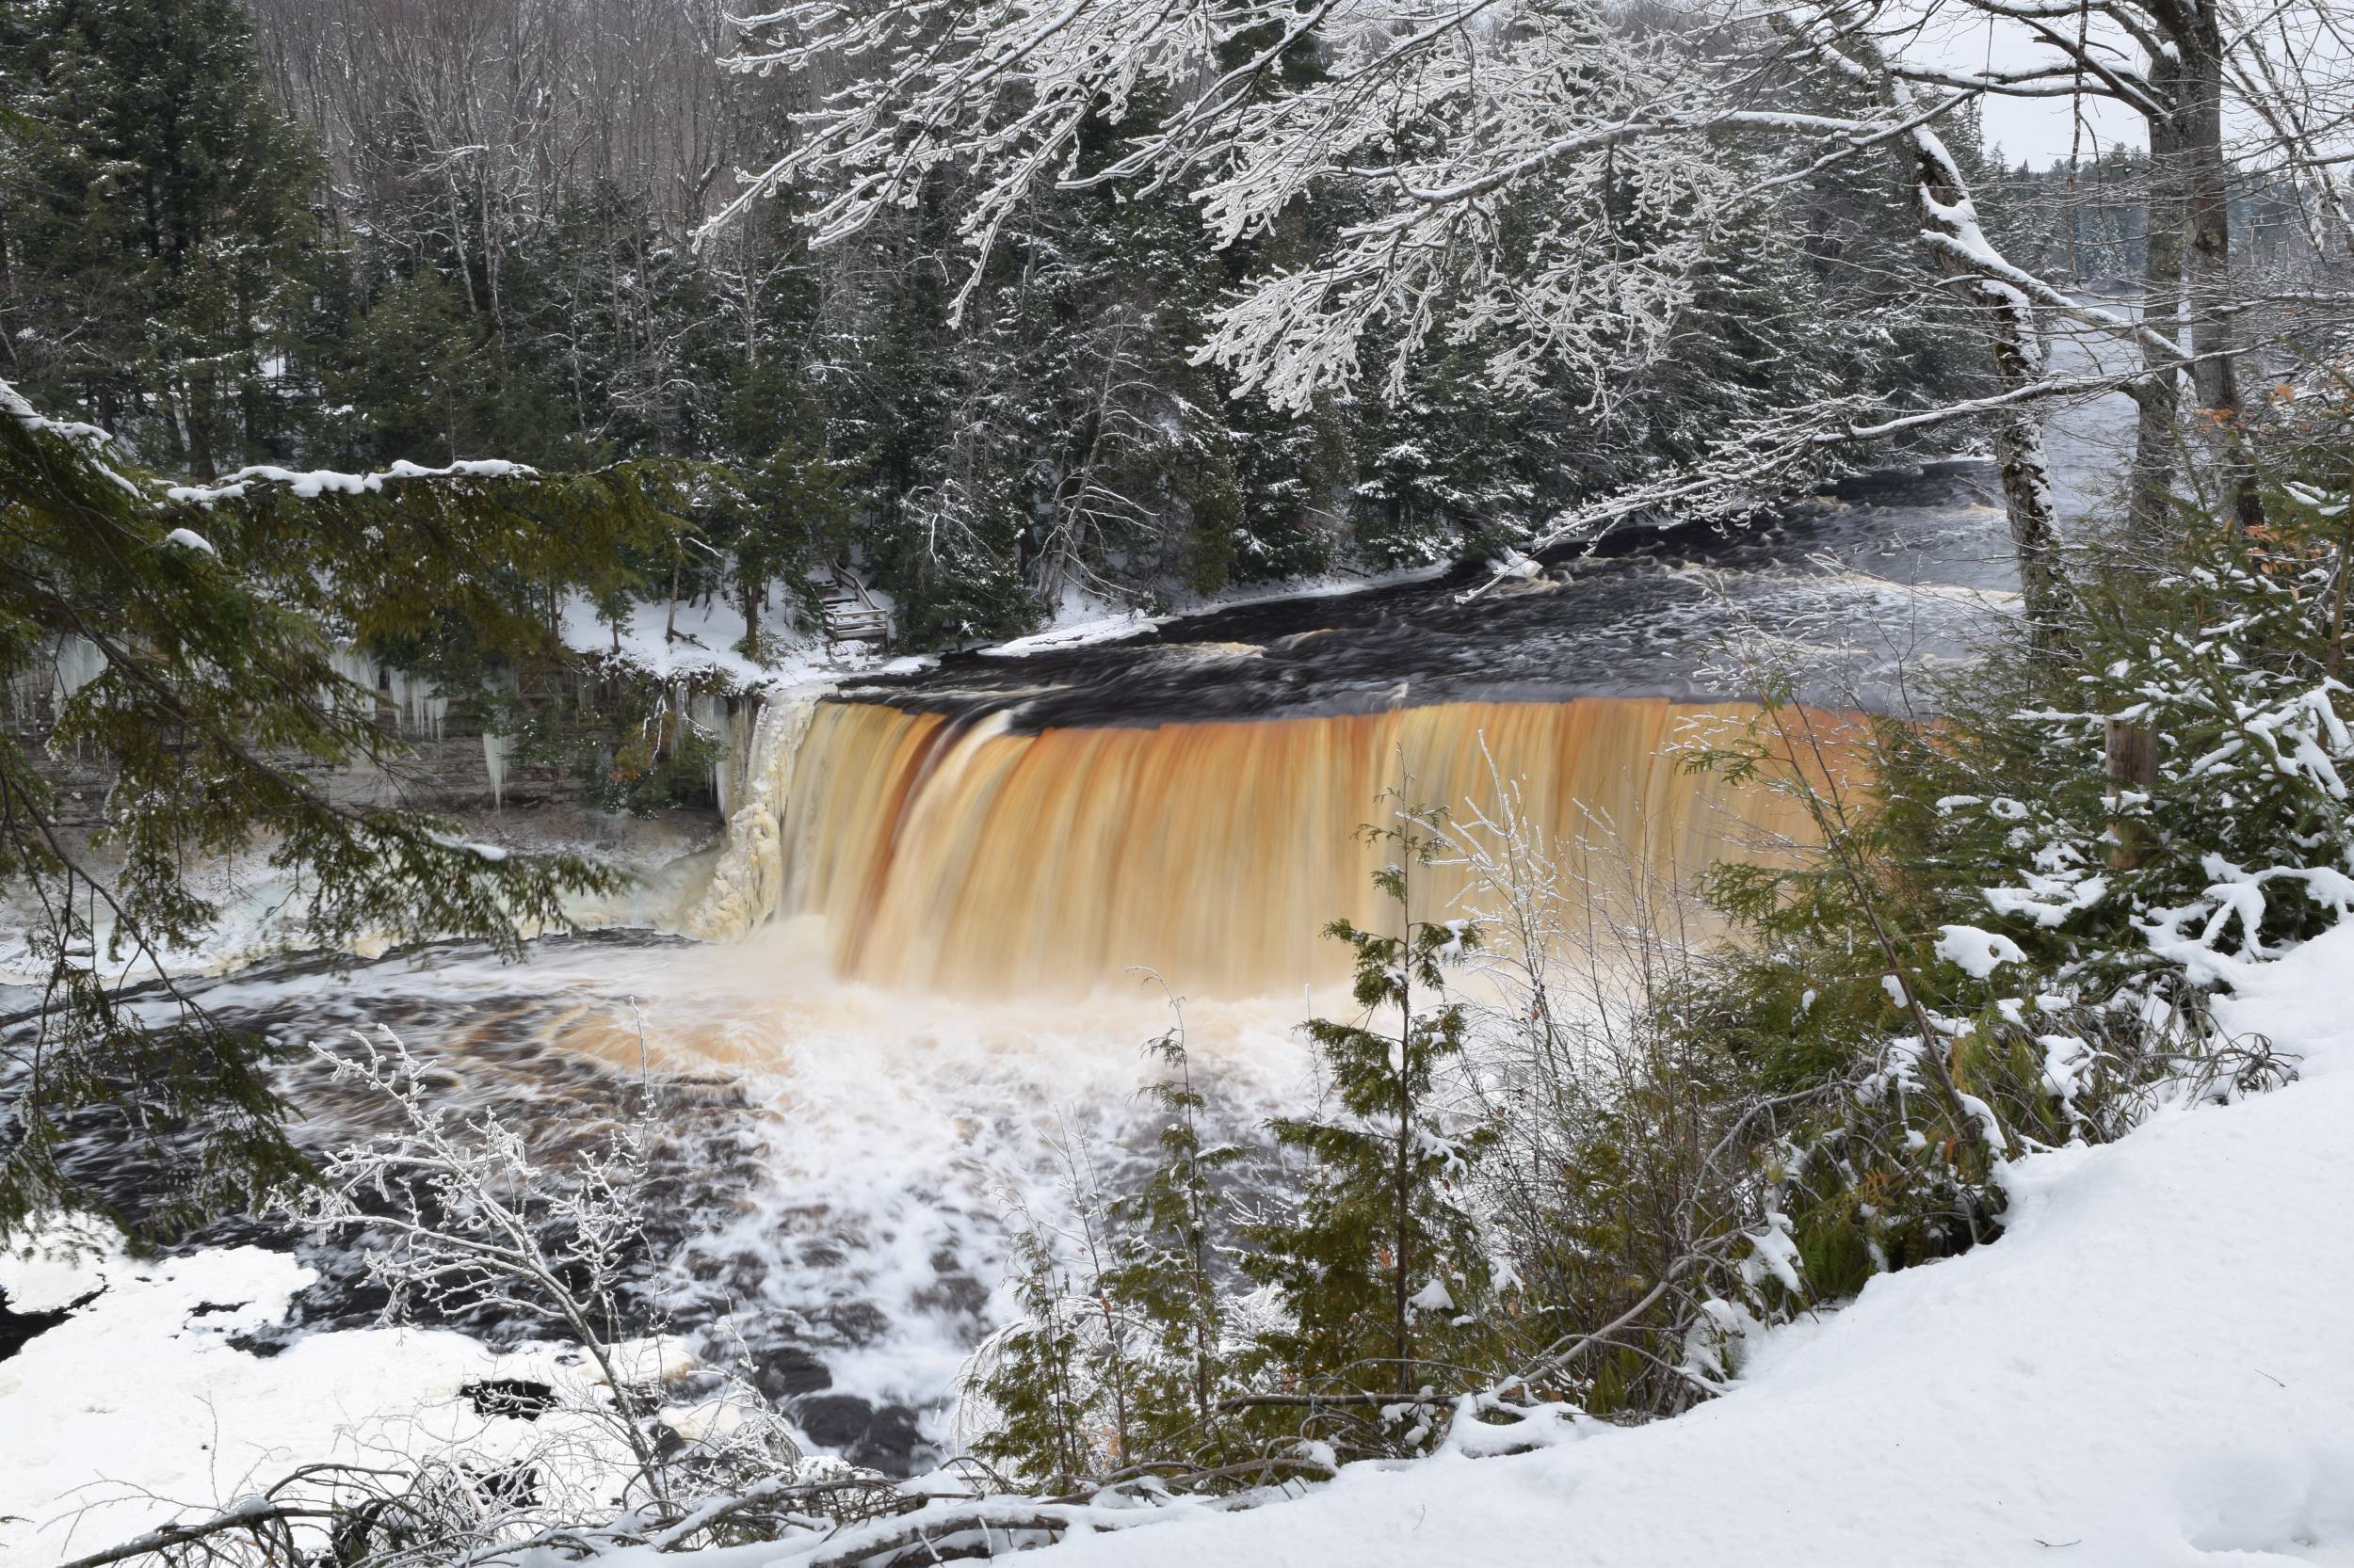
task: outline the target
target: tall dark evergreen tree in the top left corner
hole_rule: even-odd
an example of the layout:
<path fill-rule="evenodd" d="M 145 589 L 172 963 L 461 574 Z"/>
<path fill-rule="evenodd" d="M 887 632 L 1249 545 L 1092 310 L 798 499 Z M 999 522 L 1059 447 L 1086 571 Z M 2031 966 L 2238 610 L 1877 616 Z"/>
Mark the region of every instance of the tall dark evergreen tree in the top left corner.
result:
<path fill-rule="evenodd" d="M 169 469 L 282 452 L 320 184 L 235 0 L 0 12 L 9 139 L 0 339 L 12 377 Z"/>

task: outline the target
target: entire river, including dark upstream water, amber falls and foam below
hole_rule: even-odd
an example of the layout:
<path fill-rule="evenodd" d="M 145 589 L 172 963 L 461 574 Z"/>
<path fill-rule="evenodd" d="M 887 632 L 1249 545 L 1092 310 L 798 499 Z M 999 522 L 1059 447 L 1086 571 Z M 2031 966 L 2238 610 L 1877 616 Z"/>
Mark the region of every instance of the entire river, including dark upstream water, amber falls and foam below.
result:
<path fill-rule="evenodd" d="M 2128 419 L 2123 398 L 2053 419 L 2074 527 Z M 1556 831 L 1690 871 L 1780 831 L 1662 760 L 1737 718 L 1730 633 L 1796 657 L 1815 704 L 1895 709 L 2013 600 L 1982 459 L 1860 476 L 1730 534 L 1629 532 L 1467 600 L 1478 582 L 779 699 L 742 768 L 765 841 L 739 815 L 720 890 L 687 916 L 730 939 L 591 932 L 513 965 L 428 946 L 252 970 L 207 1001 L 294 1048 L 395 1031 L 438 1097 L 551 1156 L 654 1107 L 633 1309 L 739 1340 L 814 1443 L 904 1471 L 953 1443 L 958 1366 L 1008 1309 L 1005 1215 L 1057 1212 L 1073 1158 L 1111 1184 L 1139 1158 L 1139 1048 L 1172 996 L 1224 1128 L 1311 1092 L 1292 1026 L 1330 1005 L 1316 925 L 1361 909 L 1372 859 L 1349 829 L 1384 786 L 1459 805 L 1528 779 Z M 287 1088 L 315 1147 L 381 1125 L 318 1064 Z M 139 1205 L 118 1147 L 71 1158 Z M 290 1245 L 259 1220 L 188 1245 L 240 1241 Z M 318 1283 L 240 1340 L 254 1354 L 379 1307 L 351 1250 L 306 1243 L 304 1262 Z M 513 1333 L 487 1311 L 459 1326 Z"/>

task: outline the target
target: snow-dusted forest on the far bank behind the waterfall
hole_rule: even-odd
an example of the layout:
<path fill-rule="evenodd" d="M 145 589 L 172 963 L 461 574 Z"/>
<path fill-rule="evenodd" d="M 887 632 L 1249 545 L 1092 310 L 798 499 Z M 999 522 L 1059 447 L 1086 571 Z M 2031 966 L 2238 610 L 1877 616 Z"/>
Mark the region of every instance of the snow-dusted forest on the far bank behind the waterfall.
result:
<path fill-rule="evenodd" d="M 706 228 L 826 89 L 730 68 L 742 47 L 713 0 L 9 7 L 0 365 L 35 407 L 195 478 L 716 459 L 744 504 L 690 591 L 855 560 L 913 645 L 1029 629 L 1069 591 L 1165 603 L 1483 553 L 1704 459 L 1758 410 L 1991 386 L 1959 306 L 1923 299 L 1907 191 L 1862 160 L 1716 228 L 1653 323 L 1667 353 L 1608 386 L 1540 353 L 1499 391 L 1492 365 L 1530 348 L 1504 323 L 1412 358 L 1398 396 L 1271 410 L 1196 351 L 1245 275 L 1368 219 L 1361 191 L 1316 186 L 1212 254 L 1177 184 L 1040 184 L 958 315 L 979 191 L 953 170 L 822 247 L 798 219 L 840 195 L 826 172 Z M 1130 104 L 1073 167 L 1161 113 Z M 2135 153 L 2079 181 L 2003 172 L 1973 122 L 1951 115 L 1947 144 L 2006 254 L 2140 271 Z M 2274 186 L 2236 195 L 2279 242 Z M 1507 200 L 1507 242 L 1535 245 L 1554 198 L 1540 179 Z M 1627 247 L 1683 242 L 1660 200 L 1629 162 L 1605 198 Z"/>

